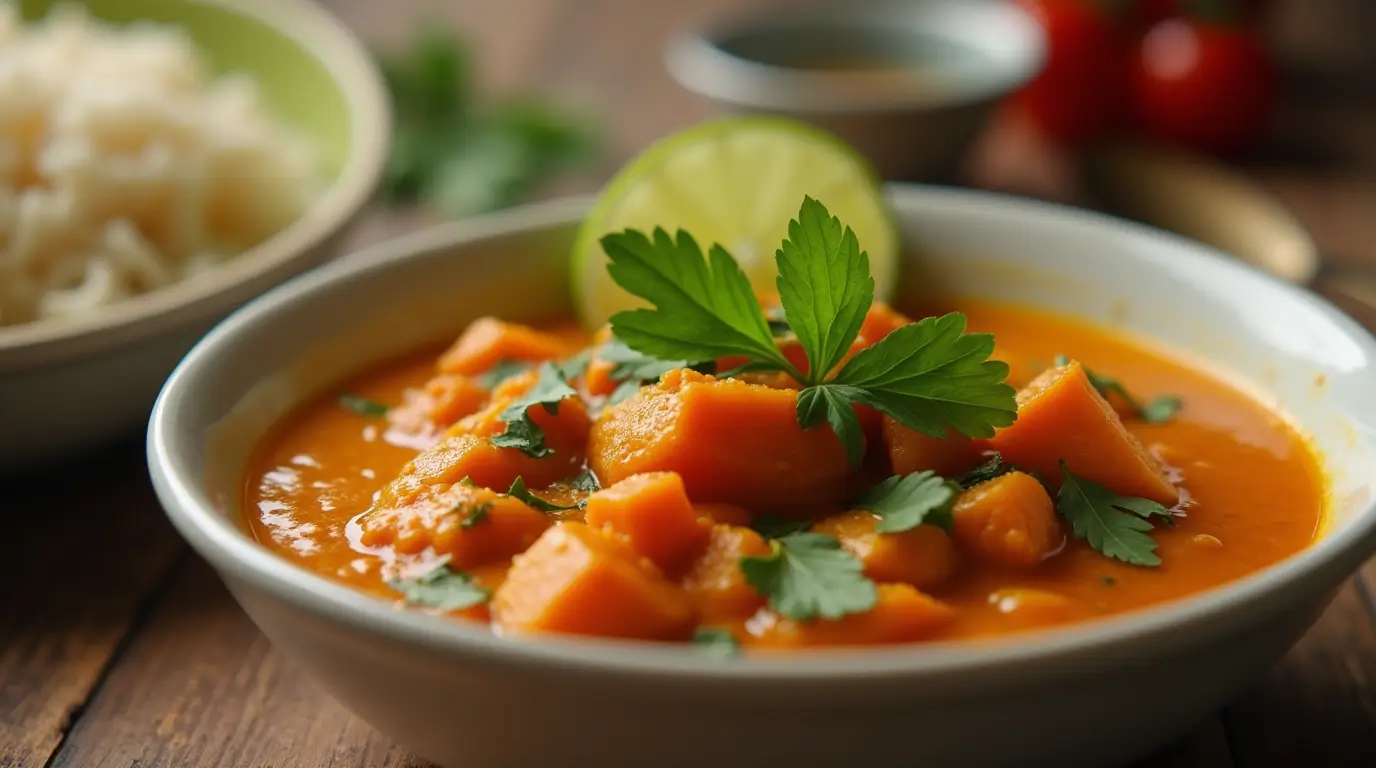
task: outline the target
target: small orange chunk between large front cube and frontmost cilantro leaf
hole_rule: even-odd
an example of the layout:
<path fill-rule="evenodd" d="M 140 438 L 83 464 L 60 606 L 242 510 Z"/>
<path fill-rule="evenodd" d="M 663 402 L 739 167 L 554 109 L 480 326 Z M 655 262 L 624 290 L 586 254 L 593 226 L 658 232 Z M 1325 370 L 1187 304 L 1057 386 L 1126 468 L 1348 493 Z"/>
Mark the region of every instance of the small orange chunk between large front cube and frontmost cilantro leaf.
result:
<path fill-rule="evenodd" d="M 707 549 L 680 581 L 705 622 L 743 619 L 765 604 L 740 571 L 742 557 L 764 557 L 769 544 L 755 531 L 716 524 Z"/>

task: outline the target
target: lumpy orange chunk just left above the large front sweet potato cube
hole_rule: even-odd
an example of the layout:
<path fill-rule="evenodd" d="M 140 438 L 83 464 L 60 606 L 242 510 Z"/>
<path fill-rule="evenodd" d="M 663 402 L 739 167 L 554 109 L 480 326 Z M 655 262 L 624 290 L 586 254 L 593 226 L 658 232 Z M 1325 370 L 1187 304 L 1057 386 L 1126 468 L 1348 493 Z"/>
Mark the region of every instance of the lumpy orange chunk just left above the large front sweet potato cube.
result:
<path fill-rule="evenodd" d="M 508 562 L 550 523 L 520 501 L 476 486 L 427 486 L 406 504 L 378 501 L 359 518 L 365 546 L 391 546 L 402 555 L 433 548 L 455 568 Z"/>

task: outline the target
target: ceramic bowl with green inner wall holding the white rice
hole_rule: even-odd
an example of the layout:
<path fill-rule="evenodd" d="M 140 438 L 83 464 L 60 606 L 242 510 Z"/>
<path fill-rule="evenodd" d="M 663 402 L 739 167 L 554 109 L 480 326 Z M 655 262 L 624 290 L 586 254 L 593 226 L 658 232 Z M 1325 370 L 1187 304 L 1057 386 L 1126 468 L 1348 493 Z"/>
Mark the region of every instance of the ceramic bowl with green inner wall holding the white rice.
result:
<path fill-rule="evenodd" d="M 319 150 L 330 180 L 297 222 L 211 274 L 88 315 L 0 328 L 0 473 L 136 432 L 206 330 L 333 253 L 387 162 L 391 106 L 381 77 L 352 33 L 310 0 L 87 6 L 99 18 L 182 26 L 212 63 L 256 76 L 270 106 Z"/>

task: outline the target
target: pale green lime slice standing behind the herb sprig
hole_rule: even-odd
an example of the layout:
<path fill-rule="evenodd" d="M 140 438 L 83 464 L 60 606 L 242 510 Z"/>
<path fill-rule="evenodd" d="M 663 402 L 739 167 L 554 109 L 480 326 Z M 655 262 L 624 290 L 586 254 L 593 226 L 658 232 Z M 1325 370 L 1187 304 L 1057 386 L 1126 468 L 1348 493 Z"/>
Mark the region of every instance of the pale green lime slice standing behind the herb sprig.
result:
<path fill-rule="evenodd" d="M 574 244 L 572 288 L 589 329 L 643 306 L 612 282 L 600 238 L 682 228 L 705 250 L 722 245 L 757 290 L 773 290 L 775 250 L 812 195 L 852 227 L 870 253 L 875 296 L 888 299 L 899 239 L 874 169 L 841 139 L 773 117 L 731 117 L 674 134 L 632 160 L 603 190 Z"/>

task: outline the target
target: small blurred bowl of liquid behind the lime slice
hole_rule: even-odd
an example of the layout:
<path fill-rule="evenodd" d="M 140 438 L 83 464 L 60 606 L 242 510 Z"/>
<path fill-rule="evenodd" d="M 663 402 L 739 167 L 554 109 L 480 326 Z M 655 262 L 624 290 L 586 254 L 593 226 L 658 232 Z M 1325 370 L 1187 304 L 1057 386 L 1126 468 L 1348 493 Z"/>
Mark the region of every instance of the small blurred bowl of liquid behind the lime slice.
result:
<path fill-rule="evenodd" d="M 911 180 L 951 179 L 993 105 L 1043 59 L 1035 19 L 995 0 L 835 3 L 689 32 L 666 51 L 689 91 L 812 122 Z"/>

